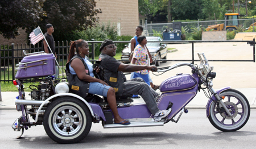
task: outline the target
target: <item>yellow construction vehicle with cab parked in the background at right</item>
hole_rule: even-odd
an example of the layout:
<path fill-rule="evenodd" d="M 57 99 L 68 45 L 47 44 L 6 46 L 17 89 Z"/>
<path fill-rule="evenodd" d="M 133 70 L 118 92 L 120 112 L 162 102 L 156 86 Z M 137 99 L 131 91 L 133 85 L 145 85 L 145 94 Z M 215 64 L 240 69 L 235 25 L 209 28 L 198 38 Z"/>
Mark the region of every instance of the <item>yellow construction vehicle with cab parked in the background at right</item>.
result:
<path fill-rule="evenodd" d="M 211 25 L 206 28 L 207 31 L 214 29 L 213 31 L 226 31 L 237 30 L 239 26 L 238 13 L 225 14 L 225 23 Z"/>

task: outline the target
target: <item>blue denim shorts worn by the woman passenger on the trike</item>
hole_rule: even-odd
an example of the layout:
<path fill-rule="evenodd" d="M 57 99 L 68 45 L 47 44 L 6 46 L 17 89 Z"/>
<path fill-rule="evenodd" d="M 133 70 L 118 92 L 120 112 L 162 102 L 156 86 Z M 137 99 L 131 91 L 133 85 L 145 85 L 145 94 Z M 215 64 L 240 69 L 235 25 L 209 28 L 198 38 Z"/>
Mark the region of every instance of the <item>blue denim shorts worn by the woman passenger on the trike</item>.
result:
<path fill-rule="evenodd" d="M 103 85 L 99 82 L 90 82 L 88 93 L 98 94 L 100 96 L 107 96 L 110 86 Z"/>

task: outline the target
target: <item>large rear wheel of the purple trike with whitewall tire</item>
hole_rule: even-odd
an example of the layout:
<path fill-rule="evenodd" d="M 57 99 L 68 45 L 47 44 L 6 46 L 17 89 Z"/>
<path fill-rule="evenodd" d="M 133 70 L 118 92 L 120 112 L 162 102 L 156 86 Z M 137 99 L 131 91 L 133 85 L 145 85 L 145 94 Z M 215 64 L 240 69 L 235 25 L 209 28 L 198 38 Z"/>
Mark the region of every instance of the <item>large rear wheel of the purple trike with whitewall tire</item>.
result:
<path fill-rule="evenodd" d="M 47 107 L 43 125 L 55 142 L 78 143 L 88 135 L 92 115 L 84 102 L 75 97 L 61 97 Z"/>

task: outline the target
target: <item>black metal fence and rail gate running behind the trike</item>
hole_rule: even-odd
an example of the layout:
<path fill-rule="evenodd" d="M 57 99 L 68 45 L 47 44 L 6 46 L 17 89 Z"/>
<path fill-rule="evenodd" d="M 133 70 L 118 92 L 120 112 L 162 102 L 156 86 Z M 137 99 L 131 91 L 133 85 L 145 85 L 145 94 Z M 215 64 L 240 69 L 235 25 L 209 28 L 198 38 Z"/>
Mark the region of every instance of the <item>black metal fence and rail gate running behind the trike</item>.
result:
<path fill-rule="evenodd" d="M 149 41 L 148 41 L 149 42 Z M 150 41 L 150 42 L 159 42 L 159 41 Z M 255 41 L 201 41 L 201 40 L 192 40 L 192 41 L 163 41 L 162 43 L 167 44 L 176 44 L 176 43 L 191 43 L 191 49 L 192 49 L 192 57 L 191 59 L 187 60 L 158 60 L 158 61 L 189 61 L 192 64 L 195 63 L 195 52 L 194 52 L 194 43 L 203 43 L 203 42 L 247 42 L 251 46 L 253 46 L 253 53 L 251 55 L 251 60 L 209 60 L 209 61 L 251 61 L 255 62 Z M 94 44 L 96 43 L 102 43 L 102 41 L 88 41 L 90 46 L 90 54 L 89 57 L 92 59 L 92 62 L 96 61 L 94 60 Z M 130 41 L 116 41 L 114 43 L 130 43 Z M 42 46 L 40 46 L 38 43 L 36 45 L 31 46 L 27 44 L 11 44 L 11 45 L 1 45 L 0 44 L 0 51 L 1 51 L 1 57 L 0 57 L 0 66 L 1 66 L 1 74 L 0 74 L 0 82 L 12 82 L 15 80 L 15 65 L 18 64 L 24 55 L 25 51 L 26 53 L 33 53 L 33 52 L 40 52 L 43 51 Z M 59 77 L 65 77 L 65 64 L 67 63 L 68 59 L 68 51 L 69 51 L 69 45 L 68 41 L 64 42 L 57 42 L 57 46 L 55 47 L 56 53 L 57 53 L 57 62 L 60 65 L 60 71 L 59 71 Z M 119 60 L 119 61 L 127 61 L 127 60 Z"/>

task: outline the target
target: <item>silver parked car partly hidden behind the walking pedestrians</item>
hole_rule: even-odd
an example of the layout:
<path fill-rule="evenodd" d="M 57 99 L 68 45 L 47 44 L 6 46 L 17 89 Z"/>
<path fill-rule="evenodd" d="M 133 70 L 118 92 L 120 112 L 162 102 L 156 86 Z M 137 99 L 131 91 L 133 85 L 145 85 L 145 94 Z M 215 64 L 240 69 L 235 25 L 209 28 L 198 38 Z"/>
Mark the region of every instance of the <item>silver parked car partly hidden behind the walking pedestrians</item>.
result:
<path fill-rule="evenodd" d="M 157 59 L 167 59 L 167 45 L 165 43 L 161 43 L 163 41 L 159 36 L 147 36 L 147 48 L 152 57 L 156 57 Z M 159 41 L 159 42 L 150 42 L 150 41 Z M 125 48 L 122 51 L 121 60 L 129 60 L 131 54 L 131 44 L 125 45 Z M 166 63 L 166 61 L 162 61 Z M 129 63 L 129 62 L 125 62 Z M 154 62 L 153 62 L 154 63 Z M 159 66 L 160 61 L 156 61 L 156 66 Z"/>

